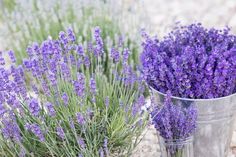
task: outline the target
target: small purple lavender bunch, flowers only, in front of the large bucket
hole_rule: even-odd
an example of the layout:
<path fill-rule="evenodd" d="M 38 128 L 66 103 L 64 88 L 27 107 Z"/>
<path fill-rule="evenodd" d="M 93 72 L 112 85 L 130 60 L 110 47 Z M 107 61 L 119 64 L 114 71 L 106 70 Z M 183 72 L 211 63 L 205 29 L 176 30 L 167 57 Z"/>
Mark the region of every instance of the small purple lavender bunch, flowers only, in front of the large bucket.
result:
<path fill-rule="evenodd" d="M 167 140 L 185 139 L 196 129 L 196 107 L 190 105 L 183 108 L 174 105 L 170 93 L 166 96 L 164 106 L 160 109 L 154 108 L 151 115 L 155 128 Z"/>

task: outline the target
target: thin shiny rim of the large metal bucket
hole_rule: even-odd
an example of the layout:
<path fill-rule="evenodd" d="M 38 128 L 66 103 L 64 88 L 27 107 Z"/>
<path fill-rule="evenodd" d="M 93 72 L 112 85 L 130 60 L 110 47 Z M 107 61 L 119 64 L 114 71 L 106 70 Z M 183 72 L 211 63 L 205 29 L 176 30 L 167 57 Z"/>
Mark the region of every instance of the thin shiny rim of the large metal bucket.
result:
<path fill-rule="evenodd" d="M 151 86 L 149 86 L 149 88 L 151 88 L 152 91 L 155 91 L 160 95 L 166 96 L 166 94 L 154 89 Z M 184 101 L 199 101 L 199 102 L 202 102 L 202 101 L 217 101 L 217 100 L 222 100 L 222 99 L 229 99 L 229 98 L 234 97 L 234 96 L 236 96 L 236 93 L 233 93 L 233 94 L 230 94 L 230 95 L 224 96 L 224 97 L 211 98 L 211 99 L 191 99 L 191 98 L 181 98 L 181 97 L 176 97 L 176 96 L 171 96 L 171 98 L 178 99 L 178 100 L 184 100 Z"/>

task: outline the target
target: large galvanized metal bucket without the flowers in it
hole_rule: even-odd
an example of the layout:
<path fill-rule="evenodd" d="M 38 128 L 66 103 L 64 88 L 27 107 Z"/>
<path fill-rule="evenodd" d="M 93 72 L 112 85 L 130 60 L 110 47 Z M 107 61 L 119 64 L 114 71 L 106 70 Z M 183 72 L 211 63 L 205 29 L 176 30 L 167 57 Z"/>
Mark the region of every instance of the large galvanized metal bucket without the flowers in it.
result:
<path fill-rule="evenodd" d="M 158 105 L 163 105 L 165 94 L 151 88 Z M 197 130 L 194 135 L 194 157 L 226 157 L 229 152 L 236 116 L 236 93 L 215 99 L 187 99 L 172 97 L 174 104 L 195 105 L 198 110 Z"/>

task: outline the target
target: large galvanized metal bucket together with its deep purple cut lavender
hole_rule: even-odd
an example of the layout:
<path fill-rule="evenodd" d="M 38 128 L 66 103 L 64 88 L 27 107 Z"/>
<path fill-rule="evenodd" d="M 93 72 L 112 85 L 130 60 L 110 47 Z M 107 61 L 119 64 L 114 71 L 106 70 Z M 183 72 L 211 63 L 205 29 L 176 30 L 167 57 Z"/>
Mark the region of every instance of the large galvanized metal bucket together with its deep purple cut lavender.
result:
<path fill-rule="evenodd" d="M 228 153 L 236 106 L 236 36 L 201 24 L 177 26 L 162 40 L 143 34 L 142 72 L 156 103 L 195 105 L 194 156 Z"/>

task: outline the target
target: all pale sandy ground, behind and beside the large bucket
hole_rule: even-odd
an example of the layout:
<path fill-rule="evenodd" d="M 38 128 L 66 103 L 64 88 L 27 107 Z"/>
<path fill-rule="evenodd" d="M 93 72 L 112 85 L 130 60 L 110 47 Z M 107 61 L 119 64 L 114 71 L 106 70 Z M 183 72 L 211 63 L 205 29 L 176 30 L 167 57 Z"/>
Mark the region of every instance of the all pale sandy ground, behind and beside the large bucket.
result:
<path fill-rule="evenodd" d="M 129 6 L 137 2 L 124 1 Z M 142 26 L 146 26 L 149 32 L 158 36 L 163 36 L 177 21 L 183 24 L 202 22 L 209 27 L 228 25 L 236 33 L 236 0 L 142 0 L 140 10 L 144 14 L 141 18 Z M 1 45 L 4 45 L 4 40 L 0 37 L 0 50 Z M 235 155 L 231 153 L 229 157 L 236 157 L 236 124 L 234 130 L 231 148 Z M 159 156 L 157 133 L 150 126 L 132 157 Z"/>

